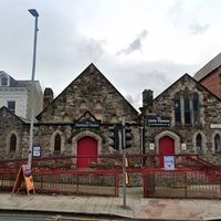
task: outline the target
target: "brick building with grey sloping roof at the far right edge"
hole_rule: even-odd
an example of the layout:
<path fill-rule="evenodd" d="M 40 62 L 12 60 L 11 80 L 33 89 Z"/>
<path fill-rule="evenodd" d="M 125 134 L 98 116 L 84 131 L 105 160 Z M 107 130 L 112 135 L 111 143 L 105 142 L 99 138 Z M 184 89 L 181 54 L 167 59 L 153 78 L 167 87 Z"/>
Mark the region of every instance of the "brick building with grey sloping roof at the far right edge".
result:
<path fill-rule="evenodd" d="M 199 70 L 193 77 L 221 98 L 221 53 Z"/>

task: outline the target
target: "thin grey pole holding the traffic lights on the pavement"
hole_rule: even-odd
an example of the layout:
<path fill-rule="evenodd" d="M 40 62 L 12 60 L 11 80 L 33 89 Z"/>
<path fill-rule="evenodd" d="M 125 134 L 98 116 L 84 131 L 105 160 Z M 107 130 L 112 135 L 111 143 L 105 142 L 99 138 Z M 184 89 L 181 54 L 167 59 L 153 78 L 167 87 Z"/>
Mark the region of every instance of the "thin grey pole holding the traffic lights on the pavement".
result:
<path fill-rule="evenodd" d="M 124 202 L 123 208 L 126 209 L 126 133 L 125 133 L 125 117 L 122 120 L 122 140 L 123 140 L 123 193 L 124 193 Z"/>

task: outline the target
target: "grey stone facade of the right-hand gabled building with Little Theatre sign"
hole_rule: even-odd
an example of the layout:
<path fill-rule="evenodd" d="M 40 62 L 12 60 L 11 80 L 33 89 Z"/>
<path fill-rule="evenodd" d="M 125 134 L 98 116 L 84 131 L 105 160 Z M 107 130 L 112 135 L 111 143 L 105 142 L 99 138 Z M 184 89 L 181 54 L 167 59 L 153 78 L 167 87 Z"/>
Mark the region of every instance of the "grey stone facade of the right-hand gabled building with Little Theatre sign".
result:
<path fill-rule="evenodd" d="M 185 91 L 189 93 L 190 122 L 186 123 L 185 117 Z M 175 154 L 198 154 L 210 162 L 221 165 L 220 149 L 215 150 L 214 136 L 221 137 L 221 102 L 210 91 L 185 74 L 158 97 L 151 101 L 150 95 L 145 91 L 144 107 L 140 108 L 145 122 L 145 152 L 159 154 L 159 140 L 162 137 L 170 137 L 175 141 Z M 175 119 L 175 97 L 180 95 L 180 119 L 179 124 Z M 199 122 L 194 122 L 194 107 L 192 105 L 193 94 L 199 99 Z M 148 99 L 148 101 L 146 101 Z M 170 126 L 149 126 L 148 116 L 164 116 L 170 118 Z M 217 128 L 212 128 L 212 125 Z M 197 136 L 201 138 L 201 149 L 197 148 Z M 150 146 L 154 148 L 150 148 Z"/>

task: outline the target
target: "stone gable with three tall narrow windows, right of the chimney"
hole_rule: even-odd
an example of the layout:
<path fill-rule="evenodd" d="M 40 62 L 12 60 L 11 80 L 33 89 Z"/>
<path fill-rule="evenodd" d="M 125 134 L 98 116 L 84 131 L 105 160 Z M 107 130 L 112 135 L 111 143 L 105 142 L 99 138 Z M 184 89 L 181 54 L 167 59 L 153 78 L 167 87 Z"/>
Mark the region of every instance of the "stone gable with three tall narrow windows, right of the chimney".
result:
<path fill-rule="evenodd" d="M 204 125 L 218 120 L 220 106 L 219 97 L 185 74 L 146 106 L 146 114 L 169 117 L 176 125 Z"/>

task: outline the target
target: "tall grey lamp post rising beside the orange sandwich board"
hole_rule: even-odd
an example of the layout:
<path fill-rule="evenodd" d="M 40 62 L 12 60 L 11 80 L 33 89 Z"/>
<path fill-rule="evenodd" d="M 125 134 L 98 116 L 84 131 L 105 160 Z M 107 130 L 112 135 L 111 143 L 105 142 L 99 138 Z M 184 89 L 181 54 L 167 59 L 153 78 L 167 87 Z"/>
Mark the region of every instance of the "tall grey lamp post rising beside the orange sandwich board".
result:
<path fill-rule="evenodd" d="M 32 77 L 31 77 L 31 124 L 30 124 L 30 137 L 29 137 L 29 158 L 28 167 L 31 169 L 32 161 L 32 148 L 33 148 L 33 125 L 34 125 L 34 73 L 35 73 L 35 60 L 36 60 L 36 33 L 39 13 L 35 9 L 30 9 L 29 12 L 35 18 L 34 25 L 34 48 L 33 48 L 33 63 L 32 63 Z"/>

